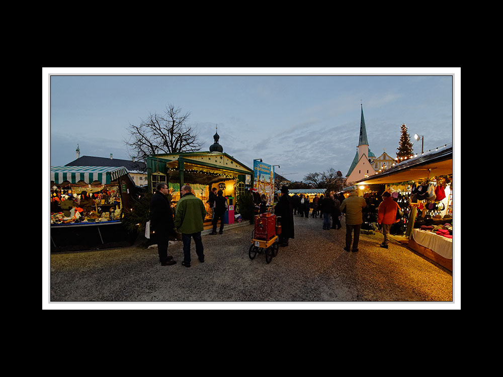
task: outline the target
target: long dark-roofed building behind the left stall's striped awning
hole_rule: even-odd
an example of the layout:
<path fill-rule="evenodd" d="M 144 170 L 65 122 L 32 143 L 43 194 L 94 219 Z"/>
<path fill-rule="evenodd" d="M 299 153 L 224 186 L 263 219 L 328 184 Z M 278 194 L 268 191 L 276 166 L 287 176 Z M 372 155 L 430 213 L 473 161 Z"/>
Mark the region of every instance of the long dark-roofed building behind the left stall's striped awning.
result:
<path fill-rule="evenodd" d="M 148 183 L 147 167 L 144 162 L 121 160 L 118 158 L 106 157 L 93 157 L 93 156 L 80 156 L 80 151 L 76 150 L 77 159 L 66 164 L 66 166 L 124 166 L 128 171 L 134 184 L 137 186 L 144 186 Z"/>

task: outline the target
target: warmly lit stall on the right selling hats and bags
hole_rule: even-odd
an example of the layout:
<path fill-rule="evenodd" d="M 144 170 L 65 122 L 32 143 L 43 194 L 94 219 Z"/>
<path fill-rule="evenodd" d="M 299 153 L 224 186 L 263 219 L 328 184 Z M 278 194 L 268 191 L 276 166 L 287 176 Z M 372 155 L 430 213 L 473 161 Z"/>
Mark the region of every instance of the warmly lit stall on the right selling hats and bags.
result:
<path fill-rule="evenodd" d="M 384 184 L 384 190 L 404 210 L 399 225 L 408 247 L 452 271 L 452 146 L 400 162 L 355 183 L 359 187 Z"/>

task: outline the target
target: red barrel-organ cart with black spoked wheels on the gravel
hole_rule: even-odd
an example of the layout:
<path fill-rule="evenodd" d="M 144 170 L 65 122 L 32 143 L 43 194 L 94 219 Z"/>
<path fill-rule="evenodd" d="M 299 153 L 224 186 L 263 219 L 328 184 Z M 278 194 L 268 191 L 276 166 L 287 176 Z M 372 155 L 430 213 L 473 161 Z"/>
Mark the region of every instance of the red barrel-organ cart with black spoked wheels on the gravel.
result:
<path fill-rule="evenodd" d="M 250 259 L 255 259 L 257 253 L 266 254 L 266 262 L 271 263 L 274 256 L 278 255 L 278 234 L 281 226 L 277 224 L 279 217 L 270 213 L 255 216 L 255 227 L 251 234 L 251 245 L 248 250 Z"/>

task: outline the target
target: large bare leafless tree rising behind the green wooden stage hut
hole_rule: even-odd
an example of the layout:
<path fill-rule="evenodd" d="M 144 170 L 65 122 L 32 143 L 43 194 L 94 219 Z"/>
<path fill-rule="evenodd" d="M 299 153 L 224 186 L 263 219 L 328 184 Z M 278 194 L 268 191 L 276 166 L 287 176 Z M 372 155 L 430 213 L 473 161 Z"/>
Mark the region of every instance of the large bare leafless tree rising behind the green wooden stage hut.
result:
<path fill-rule="evenodd" d="M 138 126 L 130 124 L 125 140 L 130 157 L 144 161 L 152 154 L 201 150 L 197 130 L 187 123 L 189 117 L 190 112 L 182 114 L 180 108 L 168 105 L 164 114 L 150 114 Z"/>

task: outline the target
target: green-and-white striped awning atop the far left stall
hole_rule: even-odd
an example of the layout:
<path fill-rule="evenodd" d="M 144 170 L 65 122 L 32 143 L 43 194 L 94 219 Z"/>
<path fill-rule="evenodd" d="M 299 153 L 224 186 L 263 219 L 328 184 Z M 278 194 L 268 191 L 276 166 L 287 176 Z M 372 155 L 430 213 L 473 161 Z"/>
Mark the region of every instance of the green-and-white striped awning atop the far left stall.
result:
<path fill-rule="evenodd" d="M 64 181 L 77 183 L 82 180 L 86 183 L 92 183 L 98 180 L 103 184 L 109 184 L 127 173 L 124 166 L 51 166 L 51 181 L 59 184 Z"/>

